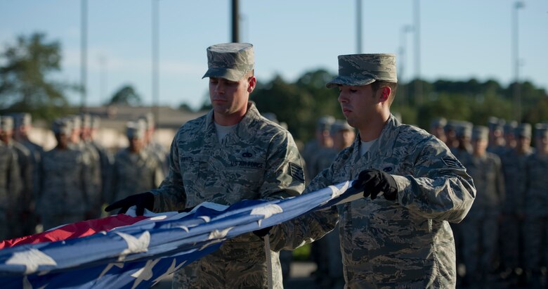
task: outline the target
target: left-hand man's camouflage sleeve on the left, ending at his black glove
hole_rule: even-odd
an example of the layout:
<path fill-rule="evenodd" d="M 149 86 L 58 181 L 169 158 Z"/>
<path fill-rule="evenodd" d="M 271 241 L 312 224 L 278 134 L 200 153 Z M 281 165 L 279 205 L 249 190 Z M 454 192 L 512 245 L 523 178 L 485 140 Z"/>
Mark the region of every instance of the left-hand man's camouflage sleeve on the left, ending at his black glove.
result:
<path fill-rule="evenodd" d="M 154 194 L 155 212 L 169 212 L 185 208 L 186 194 L 179 166 L 179 148 L 177 141 L 180 135 L 181 134 L 176 134 L 174 140 L 171 142 L 169 172 L 166 178 L 162 181 L 159 188 L 151 190 L 151 193 Z"/>

